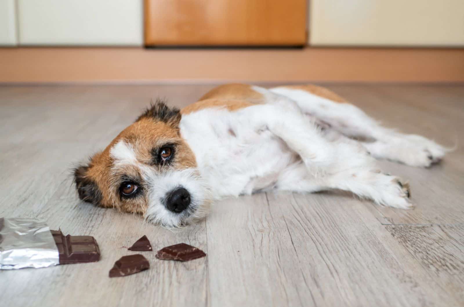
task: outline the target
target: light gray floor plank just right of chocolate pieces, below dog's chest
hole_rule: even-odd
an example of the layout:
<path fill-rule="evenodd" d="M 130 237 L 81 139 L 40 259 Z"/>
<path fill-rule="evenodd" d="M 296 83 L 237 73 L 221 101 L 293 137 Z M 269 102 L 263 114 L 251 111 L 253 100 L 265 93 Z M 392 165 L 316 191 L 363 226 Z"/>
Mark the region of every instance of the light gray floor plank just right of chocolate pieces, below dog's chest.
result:
<path fill-rule="evenodd" d="M 213 205 L 206 220 L 211 306 L 316 304 L 318 289 L 273 211 L 263 193 Z"/>

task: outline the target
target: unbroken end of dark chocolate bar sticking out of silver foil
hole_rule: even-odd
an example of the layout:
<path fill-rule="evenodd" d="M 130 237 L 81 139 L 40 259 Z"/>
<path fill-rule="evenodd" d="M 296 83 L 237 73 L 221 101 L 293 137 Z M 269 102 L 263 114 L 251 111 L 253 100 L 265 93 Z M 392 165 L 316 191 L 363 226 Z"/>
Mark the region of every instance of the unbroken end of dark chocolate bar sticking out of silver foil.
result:
<path fill-rule="evenodd" d="M 94 237 L 63 235 L 61 230 L 50 230 L 58 247 L 59 263 L 83 263 L 100 260 L 100 249 Z"/>

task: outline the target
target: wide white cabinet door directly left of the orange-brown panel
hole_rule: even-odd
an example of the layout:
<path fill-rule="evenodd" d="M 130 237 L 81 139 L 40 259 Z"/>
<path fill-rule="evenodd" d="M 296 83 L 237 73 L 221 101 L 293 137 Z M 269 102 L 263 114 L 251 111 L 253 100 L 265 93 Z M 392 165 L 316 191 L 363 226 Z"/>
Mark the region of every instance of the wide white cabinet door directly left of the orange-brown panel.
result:
<path fill-rule="evenodd" d="M 142 0 L 18 0 L 20 45 L 142 45 Z"/>

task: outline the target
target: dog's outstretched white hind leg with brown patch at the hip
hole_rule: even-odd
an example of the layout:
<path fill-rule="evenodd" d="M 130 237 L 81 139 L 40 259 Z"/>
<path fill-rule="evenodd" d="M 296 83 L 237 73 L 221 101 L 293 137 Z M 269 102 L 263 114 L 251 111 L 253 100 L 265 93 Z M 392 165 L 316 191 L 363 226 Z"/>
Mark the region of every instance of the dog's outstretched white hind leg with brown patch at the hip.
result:
<path fill-rule="evenodd" d="M 445 155 L 446 149 L 434 141 L 384 128 L 361 109 L 341 101 L 342 98 L 333 96 L 335 94 L 331 92 L 330 95 L 325 93 L 325 96 L 336 101 L 317 96 L 304 86 L 277 87 L 270 91 L 295 101 L 304 113 L 316 117 L 337 132 L 362 141 L 362 145 L 375 158 L 428 167 Z"/>

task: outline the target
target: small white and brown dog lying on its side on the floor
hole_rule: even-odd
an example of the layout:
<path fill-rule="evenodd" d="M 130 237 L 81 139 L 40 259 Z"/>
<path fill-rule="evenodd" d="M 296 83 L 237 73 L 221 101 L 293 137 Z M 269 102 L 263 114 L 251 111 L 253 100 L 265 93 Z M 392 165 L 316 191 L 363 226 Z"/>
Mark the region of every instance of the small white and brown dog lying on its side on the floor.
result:
<path fill-rule="evenodd" d="M 214 200 L 261 191 L 341 189 L 408 209 L 409 185 L 374 158 L 428 167 L 444 154 L 322 87 L 226 84 L 182 110 L 156 102 L 74 179 L 84 201 L 179 227 Z"/>

